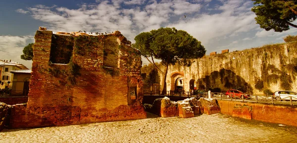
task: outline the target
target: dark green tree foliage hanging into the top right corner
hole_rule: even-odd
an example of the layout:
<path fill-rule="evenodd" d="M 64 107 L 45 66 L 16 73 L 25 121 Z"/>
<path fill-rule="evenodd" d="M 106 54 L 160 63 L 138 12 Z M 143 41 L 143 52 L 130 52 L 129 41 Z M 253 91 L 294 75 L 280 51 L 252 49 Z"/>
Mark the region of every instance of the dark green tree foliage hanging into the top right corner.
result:
<path fill-rule="evenodd" d="M 297 18 L 297 0 L 252 0 L 255 1 L 251 11 L 255 12 L 256 23 L 261 28 L 276 32 L 297 28 L 292 22 Z"/>

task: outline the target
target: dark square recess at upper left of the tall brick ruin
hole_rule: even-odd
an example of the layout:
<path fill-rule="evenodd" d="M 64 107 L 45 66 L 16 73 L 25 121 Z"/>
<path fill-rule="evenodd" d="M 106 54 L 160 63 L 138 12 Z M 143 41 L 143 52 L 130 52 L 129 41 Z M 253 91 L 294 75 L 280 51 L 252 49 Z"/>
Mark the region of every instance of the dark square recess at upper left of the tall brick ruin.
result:
<path fill-rule="evenodd" d="M 51 37 L 49 61 L 55 64 L 68 64 L 73 52 L 74 38 L 53 34 Z"/>

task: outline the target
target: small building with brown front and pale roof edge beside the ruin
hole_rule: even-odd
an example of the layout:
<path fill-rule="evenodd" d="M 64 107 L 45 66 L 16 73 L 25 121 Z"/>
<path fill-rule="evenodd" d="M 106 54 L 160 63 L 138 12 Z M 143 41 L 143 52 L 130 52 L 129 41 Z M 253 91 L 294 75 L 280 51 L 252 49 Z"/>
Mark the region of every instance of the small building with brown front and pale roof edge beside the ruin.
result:
<path fill-rule="evenodd" d="M 11 95 L 27 96 L 29 92 L 31 70 L 17 70 L 10 72 L 13 77 Z"/>

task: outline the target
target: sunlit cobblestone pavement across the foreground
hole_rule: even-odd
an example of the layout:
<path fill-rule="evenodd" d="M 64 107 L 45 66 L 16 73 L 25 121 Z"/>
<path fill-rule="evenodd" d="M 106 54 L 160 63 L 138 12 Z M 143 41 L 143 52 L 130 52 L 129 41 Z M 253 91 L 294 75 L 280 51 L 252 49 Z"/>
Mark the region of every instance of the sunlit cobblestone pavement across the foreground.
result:
<path fill-rule="evenodd" d="M 38 129 L 4 129 L 0 143 L 297 143 L 297 128 L 222 114 Z"/>

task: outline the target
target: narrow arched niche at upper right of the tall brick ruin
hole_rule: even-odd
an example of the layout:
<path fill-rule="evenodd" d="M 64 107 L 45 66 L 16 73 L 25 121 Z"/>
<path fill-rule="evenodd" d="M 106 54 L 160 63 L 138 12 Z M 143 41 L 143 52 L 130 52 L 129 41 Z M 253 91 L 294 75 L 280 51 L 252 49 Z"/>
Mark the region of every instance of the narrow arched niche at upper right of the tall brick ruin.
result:
<path fill-rule="evenodd" d="M 119 45 L 117 37 L 108 37 L 104 41 L 103 65 L 105 67 L 118 68 Z"/>

